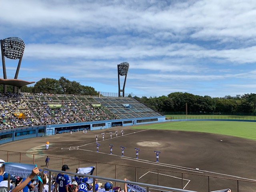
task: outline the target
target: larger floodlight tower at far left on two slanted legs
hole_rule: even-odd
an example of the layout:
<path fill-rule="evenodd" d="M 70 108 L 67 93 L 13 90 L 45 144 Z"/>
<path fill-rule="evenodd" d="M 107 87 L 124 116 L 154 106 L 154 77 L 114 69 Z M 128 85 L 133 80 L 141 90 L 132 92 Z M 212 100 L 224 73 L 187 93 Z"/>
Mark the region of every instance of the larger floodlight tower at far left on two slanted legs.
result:
<path fill-rule="evenodd" d="M 7 79 L 4 56 L 6 56 L 6 58 L 9 58 L 9 59 L 19 59 L 16 74 L 14 76 L 14 79 L 17 79 L 18 73 L 20 71 L 20 64 L 21 64 L 23 53 L 24 53 L 24 49 L 25 49 L 25 43 L 22 39 L 18 37 L 9 37 L 4 40 L 1 40 L 4 79 Z M 16 92 L 16 90 L 17 90 L 17 87 L 14 86 L 13 92 Z M 6 91 L 7 91 L 7 85 L 4 85 L 4 93 Z"/>

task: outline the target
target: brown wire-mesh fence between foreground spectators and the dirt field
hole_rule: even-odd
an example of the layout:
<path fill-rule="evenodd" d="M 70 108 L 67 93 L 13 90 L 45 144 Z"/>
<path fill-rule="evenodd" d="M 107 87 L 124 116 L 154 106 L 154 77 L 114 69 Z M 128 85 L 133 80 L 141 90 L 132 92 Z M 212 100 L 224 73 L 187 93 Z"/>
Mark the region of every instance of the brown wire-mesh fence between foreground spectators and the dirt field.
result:
<path fill-rule="evenodd" d="M 46 164 L 46 155 L 40 154 L 0 150 L 0 157 L 6 162 L 37 164 L 39 168 L 45 167 Z M 61 158 L 56 156 L 49 157 L 50 161 L 47 165 L 47 168 L 49 169 L 58 167 L 61 168 L 63 164 L 67 164 L 68 167 L 70 167 L 70 170 L 76 170 L 77 167 L 95 166 L 94 173 L 96 176 L 112 178 L 112 180 L 118 182 L 116 183 L 116 186 L 120 184 L 119 179 L 127 178 L 128 180 L 132 180 L 134 182 L 138 182 L 138 180 L 140 180 L 141 183 L 144 184 L 148 183 L 156 186 L 166 186 L 178 189 L 186 188 L 188 190 L 194 190 L 198 192 L 210 192 L 221 188 L 230 188 L 232 192 L 253 192 L 255 191 L 254 189 L 256 189 L 255 180 L 222 178 L 217 176 L 176 172 L 171 170 L 159 170 L 153 168 L 142 168 L 136 166 L 110 164 L 71 158 Z M 144 176 L 142 177 L 142 175 Z"/>

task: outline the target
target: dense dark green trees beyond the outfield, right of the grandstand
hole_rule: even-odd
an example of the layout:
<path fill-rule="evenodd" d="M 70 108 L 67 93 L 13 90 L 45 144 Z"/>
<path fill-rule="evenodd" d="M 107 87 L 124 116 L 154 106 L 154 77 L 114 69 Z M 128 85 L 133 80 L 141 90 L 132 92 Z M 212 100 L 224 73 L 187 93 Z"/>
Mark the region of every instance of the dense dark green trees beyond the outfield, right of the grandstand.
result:
<path fill-rule="evenodd" d="M 173 114 L 220 114 L 256 113 L 256 94 L 244 94 L 241 97 L 212 98 L 190 93 L 174 92 L 168 96 L 142 98 L 136 100 L 150 106 L 158 112 L 174 112 Z M 254 114 L 256 115 L 256 114 Z"/>

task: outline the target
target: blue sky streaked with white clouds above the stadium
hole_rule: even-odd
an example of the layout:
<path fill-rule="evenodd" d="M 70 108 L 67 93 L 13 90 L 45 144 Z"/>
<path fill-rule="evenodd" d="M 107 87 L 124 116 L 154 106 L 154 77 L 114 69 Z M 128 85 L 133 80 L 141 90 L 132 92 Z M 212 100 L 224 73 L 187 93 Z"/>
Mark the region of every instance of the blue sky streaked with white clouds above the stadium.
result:
<path fill-rule="evenodd" d="M 24 40 L 22 80 L 117 93 L 128 62 L 125 93 L 236 96 L 256 92 L 255 18 L 254 0 L 2 0 L 0 39 Z"/>

